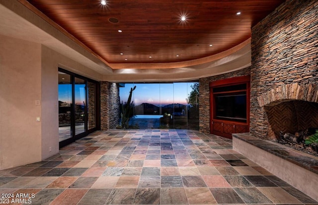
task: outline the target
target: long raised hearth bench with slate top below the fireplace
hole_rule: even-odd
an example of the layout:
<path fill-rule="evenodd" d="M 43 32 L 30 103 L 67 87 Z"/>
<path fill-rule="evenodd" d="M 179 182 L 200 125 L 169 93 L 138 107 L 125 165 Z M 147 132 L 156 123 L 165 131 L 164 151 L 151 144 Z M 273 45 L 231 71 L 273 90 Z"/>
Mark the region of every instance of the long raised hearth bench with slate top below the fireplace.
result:
<path fill-rule="evenodd" d="M 233 149 L 318 201 L 318 159 L 249 133 L 232 134 Z"/>

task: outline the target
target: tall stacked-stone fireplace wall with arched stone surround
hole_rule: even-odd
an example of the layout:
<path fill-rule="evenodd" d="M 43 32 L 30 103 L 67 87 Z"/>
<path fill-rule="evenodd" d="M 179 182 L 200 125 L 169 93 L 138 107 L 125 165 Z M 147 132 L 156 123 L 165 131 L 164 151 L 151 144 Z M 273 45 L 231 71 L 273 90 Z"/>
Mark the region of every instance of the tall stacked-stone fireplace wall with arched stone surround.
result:
<path fill-rule="evenodd" d="M 264 105 L 317 103 L 318 1 L 286 0 L 251 33 L 250 133 L 266 139 Z"/>

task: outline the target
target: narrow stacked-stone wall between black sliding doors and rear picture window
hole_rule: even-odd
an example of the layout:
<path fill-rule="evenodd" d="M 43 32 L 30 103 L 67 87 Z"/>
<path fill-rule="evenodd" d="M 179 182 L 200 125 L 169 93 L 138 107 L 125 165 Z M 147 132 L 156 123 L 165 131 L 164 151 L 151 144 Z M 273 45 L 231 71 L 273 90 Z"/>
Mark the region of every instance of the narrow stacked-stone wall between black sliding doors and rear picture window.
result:
<path fill-rule="evenodd" d="M 115 129 L 119 124 L 119 85 L 100 82 L 100 129 Z"/>

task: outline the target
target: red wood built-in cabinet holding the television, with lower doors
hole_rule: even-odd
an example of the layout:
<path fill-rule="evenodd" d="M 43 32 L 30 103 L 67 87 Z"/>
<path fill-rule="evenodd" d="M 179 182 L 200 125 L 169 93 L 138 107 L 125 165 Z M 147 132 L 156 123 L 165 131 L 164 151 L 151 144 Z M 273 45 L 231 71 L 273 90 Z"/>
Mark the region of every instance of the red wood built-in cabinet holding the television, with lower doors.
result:
<path fill-rule="evenodd" d="M 249 131 L 249 82 L 249 76 L 210 82 L 211 134 L 232 139 L 232 133 Z"/>

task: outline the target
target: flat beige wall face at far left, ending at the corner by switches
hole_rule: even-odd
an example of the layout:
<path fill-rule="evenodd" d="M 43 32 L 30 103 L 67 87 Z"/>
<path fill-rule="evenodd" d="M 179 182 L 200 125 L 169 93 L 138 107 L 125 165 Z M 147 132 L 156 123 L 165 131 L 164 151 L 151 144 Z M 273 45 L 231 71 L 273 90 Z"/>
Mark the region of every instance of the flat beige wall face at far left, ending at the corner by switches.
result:
<path fill-rule="evenodd" d="M 0 169 L 41 161 L 41 45 L 0 36 L 0 76 Z"/>

